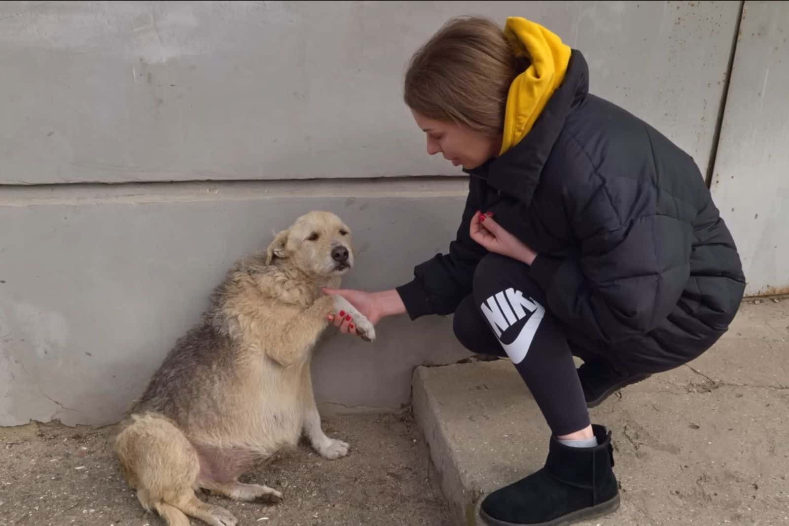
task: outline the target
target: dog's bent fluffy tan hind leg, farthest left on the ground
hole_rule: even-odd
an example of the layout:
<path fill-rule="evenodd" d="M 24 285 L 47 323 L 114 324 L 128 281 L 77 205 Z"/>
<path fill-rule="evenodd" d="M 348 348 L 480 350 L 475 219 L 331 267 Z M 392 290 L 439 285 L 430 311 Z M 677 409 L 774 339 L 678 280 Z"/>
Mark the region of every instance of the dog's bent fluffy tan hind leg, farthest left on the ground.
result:
<path fill-rule="evenodd" d="M 190 515 L 211 526 L 235 526 L 226 509 L 200 502 L 194 494 L 200 461 L 189 439 L 170 420 L 133 415 L 115 439 L 115 452 L 140 504 L 155 509 L 168 526 L 187 526 Z"/>

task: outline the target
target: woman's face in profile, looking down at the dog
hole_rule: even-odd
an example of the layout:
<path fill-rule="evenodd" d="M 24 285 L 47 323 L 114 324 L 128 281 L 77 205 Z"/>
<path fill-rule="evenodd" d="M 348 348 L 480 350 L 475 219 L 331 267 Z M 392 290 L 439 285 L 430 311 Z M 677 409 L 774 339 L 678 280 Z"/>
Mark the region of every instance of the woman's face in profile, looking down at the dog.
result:
<path fill-rule="evenodd" d="M 413 120 L 428 137 L 428 155 L 442 154 L 454 166 L 475 169 L 501 148 L 501 138 L 492 138 L 464 124 L 424 117 L 411 110 Z"/>

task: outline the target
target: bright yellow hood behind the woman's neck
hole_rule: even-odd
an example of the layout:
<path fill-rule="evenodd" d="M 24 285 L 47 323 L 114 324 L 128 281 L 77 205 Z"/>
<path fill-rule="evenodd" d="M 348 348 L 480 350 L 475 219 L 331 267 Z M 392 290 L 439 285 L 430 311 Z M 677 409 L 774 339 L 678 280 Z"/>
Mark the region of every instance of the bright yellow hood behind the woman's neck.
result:
<path fill-rule="evenodd" d="M 515 55 L 529 58 L 531 65 L 510 85 L 499 155 L 529 133 L 551 95 L 564 80 L 570 62 L 570 46 L 540 24 L 525 18 L 507 18 L 504 36 Z"/>

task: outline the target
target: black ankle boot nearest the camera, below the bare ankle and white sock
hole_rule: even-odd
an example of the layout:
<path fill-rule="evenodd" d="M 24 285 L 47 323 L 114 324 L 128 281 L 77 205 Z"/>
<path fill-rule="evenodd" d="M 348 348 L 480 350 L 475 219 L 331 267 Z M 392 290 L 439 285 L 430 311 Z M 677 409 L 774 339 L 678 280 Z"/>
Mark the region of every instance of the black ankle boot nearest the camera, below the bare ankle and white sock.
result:
<path fill-rule="evenodd" d="M 619 508 L 611 433 L 593 425 L 594 447 L 563 446 L 554 436 L 540 471 L 494 491 L 480 515 L 490 526 L 558 526 Z"/>

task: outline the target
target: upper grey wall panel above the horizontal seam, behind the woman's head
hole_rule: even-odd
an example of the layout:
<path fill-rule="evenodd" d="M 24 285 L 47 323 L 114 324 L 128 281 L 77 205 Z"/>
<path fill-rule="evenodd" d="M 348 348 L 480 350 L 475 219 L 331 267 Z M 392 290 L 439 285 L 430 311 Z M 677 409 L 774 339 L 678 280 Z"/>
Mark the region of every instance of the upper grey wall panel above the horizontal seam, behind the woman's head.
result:
<path fill-rule="evenodd" d="M 2 2 L 0 183 L 459 174 L 402 103 L 450 17 L 537 20 L 706 169 L 738 2 Z M 439 156 L 440 157 L 440 156 Z"/>

